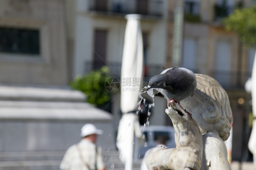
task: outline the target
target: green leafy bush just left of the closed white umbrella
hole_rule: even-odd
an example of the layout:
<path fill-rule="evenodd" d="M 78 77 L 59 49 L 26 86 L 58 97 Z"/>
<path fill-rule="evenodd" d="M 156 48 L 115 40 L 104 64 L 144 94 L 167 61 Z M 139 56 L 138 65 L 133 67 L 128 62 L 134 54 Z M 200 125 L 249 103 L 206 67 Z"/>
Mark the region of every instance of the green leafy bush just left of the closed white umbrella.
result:
<path fill-rule="evenodd" d="M 103 66 L 99 70 L 77 76 L 71 83 L 71 87 L 80 90 L 87 96 L 87 102 L 96 106 L 110 101 L 110 92 L 105 89 L 105 81 L 109 78 L 109 68 Z"/>

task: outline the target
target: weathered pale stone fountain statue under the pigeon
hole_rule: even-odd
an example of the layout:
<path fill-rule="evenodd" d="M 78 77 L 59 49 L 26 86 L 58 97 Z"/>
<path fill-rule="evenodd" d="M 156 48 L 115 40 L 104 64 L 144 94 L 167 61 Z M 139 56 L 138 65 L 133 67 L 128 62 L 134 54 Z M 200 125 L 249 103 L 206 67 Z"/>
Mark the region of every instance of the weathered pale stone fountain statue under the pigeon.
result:
<path fill-rule="evenodd" d="M 224 141 L 232 112 L 226 91 L 212 77 L 196 74 L 193 96 L 166 109 L 175 130 L 176 148 L 154 147 L 145 163 L 152 170 L 231 170 Z M 192 114 L 192 119 L 187 112 Z"/>

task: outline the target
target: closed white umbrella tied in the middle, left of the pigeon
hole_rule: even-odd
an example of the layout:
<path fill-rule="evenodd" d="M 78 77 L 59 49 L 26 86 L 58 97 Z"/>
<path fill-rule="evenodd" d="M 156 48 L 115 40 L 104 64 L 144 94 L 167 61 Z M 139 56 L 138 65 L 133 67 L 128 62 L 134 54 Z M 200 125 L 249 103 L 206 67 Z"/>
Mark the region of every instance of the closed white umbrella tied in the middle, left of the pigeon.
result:
<path fill-rule="evenodd" d="M 125 163 L 125 170 L 132 170 L 134 134 L 142 138 L 136 104 L 142 85 L 143 75 L 143 40 L 140 15 L 126 15 L 127 24 L 124 36 L 124 49 L 121 67 L 121 111 L 117 147 L 120 159 Z"/>

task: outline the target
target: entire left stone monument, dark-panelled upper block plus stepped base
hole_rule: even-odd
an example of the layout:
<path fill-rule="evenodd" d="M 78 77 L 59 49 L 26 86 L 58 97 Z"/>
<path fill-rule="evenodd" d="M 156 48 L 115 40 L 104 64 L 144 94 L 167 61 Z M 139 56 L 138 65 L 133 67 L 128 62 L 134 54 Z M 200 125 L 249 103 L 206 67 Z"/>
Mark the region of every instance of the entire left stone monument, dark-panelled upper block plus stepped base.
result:
<path fill-rule="evenodd" d="M 115 150 L 112 115 L 68 87 L 68 36 L 66 1 L 0 1 L 0 169 L 59 169 L 85 123 Z"/>

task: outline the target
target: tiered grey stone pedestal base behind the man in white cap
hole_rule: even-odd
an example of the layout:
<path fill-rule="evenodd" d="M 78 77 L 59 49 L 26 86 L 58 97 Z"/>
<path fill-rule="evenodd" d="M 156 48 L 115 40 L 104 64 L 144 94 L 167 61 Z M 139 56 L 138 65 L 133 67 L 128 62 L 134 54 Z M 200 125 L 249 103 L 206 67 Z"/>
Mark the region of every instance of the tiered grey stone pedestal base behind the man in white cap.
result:
<path fill-rule="evenodd" d="M 0 86 L 0 169 L 58 167 L 68 147 L 81 140 L 85 123 L 104 131 L 97 143 L 103 150 L 115 150 L 112 115 L 84 101 L 81 92 L 69 89 Z"/>

